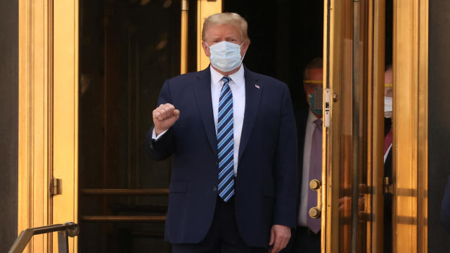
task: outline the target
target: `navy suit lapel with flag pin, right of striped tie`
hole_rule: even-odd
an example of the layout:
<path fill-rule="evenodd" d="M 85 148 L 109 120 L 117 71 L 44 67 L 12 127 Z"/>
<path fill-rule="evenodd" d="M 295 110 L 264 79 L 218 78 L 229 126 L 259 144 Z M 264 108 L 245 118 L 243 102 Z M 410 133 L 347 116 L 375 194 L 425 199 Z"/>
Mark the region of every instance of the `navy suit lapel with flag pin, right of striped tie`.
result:
<path fill-rule="evenodd" d="M 258 83 L 257 77 L 253 72 L 244 68 L 245 77 L 245 112 L 244 112 L 244 122 L 242 128 L 242 134 L 240 136 L 240 146 L 239 146 L 239 157 L 242 157 L 245 148 L 247 147 L 248 141 L 252 134 L 253 126 L 255 125 L 255 120 L 257 117 L 257 112 L 259 108 L 259 100 L 261 98 L 261 93 L 263 86 Z"/>

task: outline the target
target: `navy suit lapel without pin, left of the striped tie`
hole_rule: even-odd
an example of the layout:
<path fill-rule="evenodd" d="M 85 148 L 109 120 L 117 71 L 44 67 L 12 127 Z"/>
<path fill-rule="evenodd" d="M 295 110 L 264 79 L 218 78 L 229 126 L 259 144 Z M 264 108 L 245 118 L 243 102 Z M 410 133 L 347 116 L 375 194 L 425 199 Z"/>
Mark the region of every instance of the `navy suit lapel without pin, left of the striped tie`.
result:
<path fill-rule="evenodd" d="M 217 154 L 217 138 L 214 126 L 214 116 L 212 112 L 211 98 L 211 72 L 210 67 L 198 72 L 197 81 L 194 85 L 195 100 L 198 110 L 203 120 L 205 132 L 210 141 L 210 145 L 214 153 Z"/>

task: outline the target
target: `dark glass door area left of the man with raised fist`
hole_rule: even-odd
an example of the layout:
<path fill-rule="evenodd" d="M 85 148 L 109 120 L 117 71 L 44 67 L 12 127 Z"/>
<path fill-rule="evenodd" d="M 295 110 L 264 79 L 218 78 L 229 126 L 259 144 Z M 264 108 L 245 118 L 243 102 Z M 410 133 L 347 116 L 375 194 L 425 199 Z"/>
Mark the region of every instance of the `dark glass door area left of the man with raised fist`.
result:
<path fill-rule="evenodd" d="M 167 196 L 86 195 L 83 190 L 168 188 L 171 161 L 150 160 L 145 137 L 163 82 L 180 71 L 180 6 L 179 0 L 80 0 L 80 252 L 169 252 L 162 221 L 84 219 L 162 216 Z M 195 22 L 189 25 L 190 37 L 196 35 L 194 27 Z M 195 58 L 195 52 L 189 55 Z"/>

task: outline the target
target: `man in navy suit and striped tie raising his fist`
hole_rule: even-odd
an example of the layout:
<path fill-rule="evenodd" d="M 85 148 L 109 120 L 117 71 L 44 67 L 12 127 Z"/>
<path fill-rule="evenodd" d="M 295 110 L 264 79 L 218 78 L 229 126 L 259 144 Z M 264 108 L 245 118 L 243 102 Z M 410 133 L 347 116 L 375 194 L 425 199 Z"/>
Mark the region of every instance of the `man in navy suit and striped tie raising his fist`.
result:
<path fill-rule="evenodd" d="M 174 155 L 165 240 L 173 252 L 279 252 L 296 223 L 290 92 L 242 65 L 240 15 L 210 16 L 202 37 L 210 67 L 165 82 L 146 140 L 154 159 Z"/>

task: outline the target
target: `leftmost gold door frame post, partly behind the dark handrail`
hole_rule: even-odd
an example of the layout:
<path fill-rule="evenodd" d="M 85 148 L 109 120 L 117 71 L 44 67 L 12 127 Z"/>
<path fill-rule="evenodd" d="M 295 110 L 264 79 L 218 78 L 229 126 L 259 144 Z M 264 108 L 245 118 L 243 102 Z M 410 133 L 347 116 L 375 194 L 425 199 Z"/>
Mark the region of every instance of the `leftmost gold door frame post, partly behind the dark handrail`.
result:
<path fill-rule="evenodd" d="M 49 216 L 49 8 L 19 1 L 18 232 L 47 225 Z M 25 252 L 44 252 L 46 235 Z"/>

